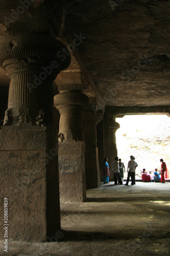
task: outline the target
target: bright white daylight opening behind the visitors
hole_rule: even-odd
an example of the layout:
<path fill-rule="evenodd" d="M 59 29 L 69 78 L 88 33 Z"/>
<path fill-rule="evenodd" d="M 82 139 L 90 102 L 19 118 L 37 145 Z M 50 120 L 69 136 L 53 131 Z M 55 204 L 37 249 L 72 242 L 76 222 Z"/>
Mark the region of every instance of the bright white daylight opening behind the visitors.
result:
<path fill-rule="evenodd" d="M 136 179 L 141 171 L 160 170 L 160 159 L 170 170 L 170 120 L 166 115 L 126 115 L 116 118 L 120 128 L 116 132 L 117 154 L 127 170 L 130 155 L 135 157 Z M 126 178 L 126 176 L 125 176 Z"/>

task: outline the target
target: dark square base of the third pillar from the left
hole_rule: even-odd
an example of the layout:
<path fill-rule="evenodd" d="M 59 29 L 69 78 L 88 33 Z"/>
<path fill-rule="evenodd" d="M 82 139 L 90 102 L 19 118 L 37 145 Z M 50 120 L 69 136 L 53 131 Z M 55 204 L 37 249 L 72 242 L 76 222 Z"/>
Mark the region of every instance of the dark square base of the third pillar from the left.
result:
<path fill-rule="evenodd" d="M 101 186 L 98 147 L 86 147 L 86 188 Z"/>

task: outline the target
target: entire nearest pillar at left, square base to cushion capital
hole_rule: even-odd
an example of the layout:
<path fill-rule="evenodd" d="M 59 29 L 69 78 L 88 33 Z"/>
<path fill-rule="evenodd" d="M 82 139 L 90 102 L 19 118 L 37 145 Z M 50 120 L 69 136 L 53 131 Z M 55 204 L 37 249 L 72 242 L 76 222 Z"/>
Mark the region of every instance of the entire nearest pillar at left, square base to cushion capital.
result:
<path fill-rule="evenodd" d="M 70 63 L 57 57 L 61 48 L 60 41 L 38 34 L 1 41 L 0 60 L 11 81 L 0 132 L 0 186 L 1 202 L 9 202 L 12 239 L 46 241 L 60 229 L 52 81 Z"/>

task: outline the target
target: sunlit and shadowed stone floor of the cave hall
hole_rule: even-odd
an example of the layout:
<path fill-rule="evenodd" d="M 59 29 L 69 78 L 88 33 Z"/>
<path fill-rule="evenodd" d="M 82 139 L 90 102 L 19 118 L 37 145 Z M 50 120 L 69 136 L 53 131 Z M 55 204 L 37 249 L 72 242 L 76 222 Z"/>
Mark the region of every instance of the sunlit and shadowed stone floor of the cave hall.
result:
<path fill-rule="evenodd" d="M 61 203 L 51 242 L 10 240 L 6 253 L 1 241 L 0 255 L 170 255 L 169 191 L 169 182 L 102 184 L 85 203 Z"/>

